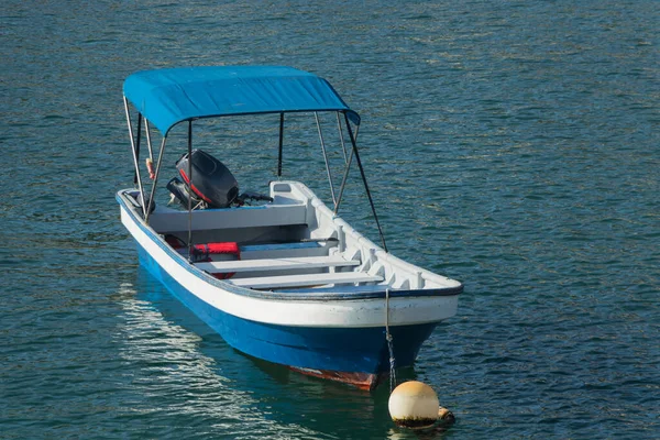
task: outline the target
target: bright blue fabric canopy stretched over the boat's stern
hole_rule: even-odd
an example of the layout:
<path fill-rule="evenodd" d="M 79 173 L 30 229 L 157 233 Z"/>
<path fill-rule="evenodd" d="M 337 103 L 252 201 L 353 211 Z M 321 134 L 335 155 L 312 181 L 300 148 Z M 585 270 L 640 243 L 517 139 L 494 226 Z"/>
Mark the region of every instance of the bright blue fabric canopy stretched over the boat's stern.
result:
<path fill-rule="evenodd" d="M 232 114 L 343 111 L 360 117 L 318 76 L 284 66 L 205 66 L 138 72 L 124 97 L 166 135 L 186 120 Z"/>

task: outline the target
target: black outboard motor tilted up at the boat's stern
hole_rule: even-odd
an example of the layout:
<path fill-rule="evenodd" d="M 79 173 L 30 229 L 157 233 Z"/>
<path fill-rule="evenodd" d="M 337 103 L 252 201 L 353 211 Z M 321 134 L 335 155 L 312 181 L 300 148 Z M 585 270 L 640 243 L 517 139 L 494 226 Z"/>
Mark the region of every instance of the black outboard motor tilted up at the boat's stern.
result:
<path fill-rule="evenodd" d="M 188 208 L 189 198 L 194 208 L 228 208 L 239 196 L 239 183 L 229 168 L 201 150 L 194 150 L 190 157 L 185 154 L 176 163 L 184 182 L 175 177 L 167 184 L 167 189 L 185 208 Z M 193 182 L 188 176 L 188 161 Z"/>

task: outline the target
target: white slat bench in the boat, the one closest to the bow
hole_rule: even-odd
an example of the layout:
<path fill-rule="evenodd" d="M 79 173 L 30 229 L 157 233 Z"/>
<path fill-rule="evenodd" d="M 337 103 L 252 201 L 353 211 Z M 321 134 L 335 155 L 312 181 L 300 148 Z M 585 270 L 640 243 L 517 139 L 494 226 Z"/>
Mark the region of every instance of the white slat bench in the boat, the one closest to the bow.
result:
<path fill-rule="evenodd" d="M 286 288 L 322 286 L 326 284 L 351 284 L 382 282 L 383 277 L 364 272 L 334 272 L 327 274 L 264 276 L 254 278 L 232 278 L 228 283 L 250 288 Z"/>

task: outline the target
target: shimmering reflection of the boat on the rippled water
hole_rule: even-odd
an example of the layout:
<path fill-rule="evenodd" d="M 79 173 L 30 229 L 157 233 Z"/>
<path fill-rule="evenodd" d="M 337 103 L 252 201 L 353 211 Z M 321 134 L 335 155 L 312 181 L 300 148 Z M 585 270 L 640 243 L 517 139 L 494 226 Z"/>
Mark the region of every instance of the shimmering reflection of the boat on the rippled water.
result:
<path fill-rule="evenodd" d="M 248 356 L 143 267 L 134 285 L 119 290 L 124 319 L 116 338 L 123 344 L 120 353 L 134 396 L 127 409 L 132 415 L 155 417 L 156 425 L 162 417 L 163 426 L 170 422 L 170 413 L 191 426 L 210 418 L 209 425 L 266 437 L 324 438 L 323 432 L 345 429 L 346 420 L 389 422 L 388 386 L 364 393 Z"/>

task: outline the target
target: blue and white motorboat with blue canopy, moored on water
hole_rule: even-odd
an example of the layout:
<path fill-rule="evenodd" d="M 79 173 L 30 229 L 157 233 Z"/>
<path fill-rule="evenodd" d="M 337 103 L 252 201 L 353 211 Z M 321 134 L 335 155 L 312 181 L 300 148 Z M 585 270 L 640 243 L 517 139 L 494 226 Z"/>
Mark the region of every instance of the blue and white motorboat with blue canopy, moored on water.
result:
<path fill-rule="evenodd" d="M 121 221 L 141 264 L 231 346 L 372 389 L 393 367 L 411 365 L 438 323 L 455 315 L 460 282 L 387 251 L 358 148 L 360 116 L 324 79 L 282 66 L 167 68 L 129 76 L 123 95 L 134 186 L 117 193 Z M 277 175 L 267 194 L 241 194 L 222 162 L 193 147 L 193 127 L 208 118 L 249 122 L 262 114 L 271 114 L 273 130 L 278 124 Z M 343 151 L 338 187 L 319 114 L 337 119 L 337 154 Z M 331 206 L 282 177 L 289 116 L 316 120 Z M 158 185 L 168 134 L 179 124 L 187 151 L 172 169 L 176 177 Z M 352 166 L 381 245 L 338 215 Z M 156 204 L 158 194 L 172 195 L 176 205 Z"/>

